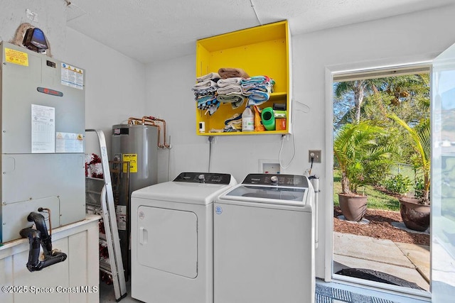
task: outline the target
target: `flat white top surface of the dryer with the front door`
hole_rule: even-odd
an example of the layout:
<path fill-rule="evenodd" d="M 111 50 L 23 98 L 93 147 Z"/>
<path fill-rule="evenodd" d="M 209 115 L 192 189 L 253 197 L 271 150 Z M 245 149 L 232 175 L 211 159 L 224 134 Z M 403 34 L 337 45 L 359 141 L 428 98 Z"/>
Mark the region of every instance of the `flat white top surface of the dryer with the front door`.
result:
<path fill-rule="evenodd" d="M 232 185 L 237 184 L 235 179 L 230 175 L 228 175 L 228 184 L 225 182 L 225 180 L 227 180 L 225 176 L 222 178 L 223 182 L 216 181 L 220 180 L 220 178 L 216 177 L 215 174 L 211 174 L 210 177 L 205 176 L 206 180 L 213 180 L 213 182 L 215 182 L 215 184 L 213 184 L 200 183 L 199 181 L 196 182 L 195 178 L 198 178 L 198 175 L 201 175 L 201 173 L 195 172 L 191 174 L 192 177 L 186 178 L 185 181 L 174 180 L 138 189 L 137 191 L 132 192 L 132 197 L 186 204 L 207 205 L 213 203 L 215 197 L 218 197 L 220 194 L 230 189 Z M 195 180 L 195 182 L 190 182 L 189 180 Z"/>

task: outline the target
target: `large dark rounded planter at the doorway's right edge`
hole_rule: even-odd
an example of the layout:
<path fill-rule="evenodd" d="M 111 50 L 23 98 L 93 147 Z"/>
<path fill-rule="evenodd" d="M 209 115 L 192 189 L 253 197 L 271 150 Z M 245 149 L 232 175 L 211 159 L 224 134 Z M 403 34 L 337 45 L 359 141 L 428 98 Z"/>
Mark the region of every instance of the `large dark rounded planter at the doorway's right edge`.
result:
<path fill-rule="evenodd" d="M 429 227 L 430 206 L 419 204 L 419 199 L 402 197 L 400 214 L 403 223 L 413 231 L 426 231 Z"/>

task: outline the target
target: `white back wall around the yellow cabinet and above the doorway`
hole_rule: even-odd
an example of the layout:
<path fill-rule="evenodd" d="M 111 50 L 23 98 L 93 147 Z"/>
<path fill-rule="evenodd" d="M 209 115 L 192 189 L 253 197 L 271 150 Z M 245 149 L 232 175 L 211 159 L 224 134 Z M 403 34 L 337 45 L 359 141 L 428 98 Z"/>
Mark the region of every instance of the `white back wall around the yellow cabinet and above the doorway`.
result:
<path fill-rule="evenodd" d="M 331 142 L 332 109 L 331 104 L 326 104 L 326 69 L 338 72 L 432 60 L 455 43 L 453 16 L 455 6 L 292 37 L 292 127 L 296 155 L 282 173 L 302 174 L 309 168 L 308 150 L 323 151 L 322 163 L 315 164 L 312 171 L 321 179 L 321 235 L 331 231 L 333 216 L 332 153 L 327 145 Z M 191 92 L 196 75 L 195 59 L 186 56 L 147 67 L 146 111 L 168 121 L 173 145 L 171 177 L 185 170 L 208 170 L 208 140 L 196 136 L 195 101 Z M 166 93 L 159 94 L 166 87 Z M 230 172 L 241 182 L 247 173 L 259 171 L 259 159 L 278 159 L 280 143 L 281 136 L 277 135 L 216 137 L 210 171 Z M 291 139 L 284 143 L 282 162 L 287 164 L 293 144 Z M 167 162 L 159 165 L 164 171 Z M 326 273 L 324 258 L 331 258 L 331 251 L 326 255 L 326 248 L 331 248 L 330 241 L 324 243 L 321 238 L 316 251 L 319 277 Z"/>

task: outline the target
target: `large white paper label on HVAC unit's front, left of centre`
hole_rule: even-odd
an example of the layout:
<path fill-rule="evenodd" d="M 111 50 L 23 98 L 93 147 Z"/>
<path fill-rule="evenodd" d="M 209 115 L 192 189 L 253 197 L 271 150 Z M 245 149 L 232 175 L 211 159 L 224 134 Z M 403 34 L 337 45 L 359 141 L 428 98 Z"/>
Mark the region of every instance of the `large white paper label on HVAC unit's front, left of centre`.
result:
<path fill-rule="evenodd" d="M 55 108 L 31 104 L 31 153 L 55 153 Z"/>

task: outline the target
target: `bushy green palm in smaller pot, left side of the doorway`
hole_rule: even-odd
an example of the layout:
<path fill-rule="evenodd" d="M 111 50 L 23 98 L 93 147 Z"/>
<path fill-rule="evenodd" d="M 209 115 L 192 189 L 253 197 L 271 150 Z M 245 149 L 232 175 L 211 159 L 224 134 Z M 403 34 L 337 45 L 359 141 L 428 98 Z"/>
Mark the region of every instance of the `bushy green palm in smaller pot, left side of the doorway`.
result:
<path fill-rule="evenodd" d="M 360 221 L 367 209 L 367 196 L 358 192 L 368 182 L 368 174 L 388 161 L 390 146 L 378 145 L 376 138 L 385 134 L 369 121 L 345 124 L 336 133 L 333 153 L 341 170 L 341 212 L 348 221 Z"/>

